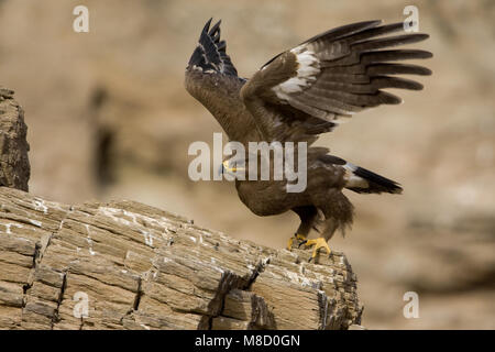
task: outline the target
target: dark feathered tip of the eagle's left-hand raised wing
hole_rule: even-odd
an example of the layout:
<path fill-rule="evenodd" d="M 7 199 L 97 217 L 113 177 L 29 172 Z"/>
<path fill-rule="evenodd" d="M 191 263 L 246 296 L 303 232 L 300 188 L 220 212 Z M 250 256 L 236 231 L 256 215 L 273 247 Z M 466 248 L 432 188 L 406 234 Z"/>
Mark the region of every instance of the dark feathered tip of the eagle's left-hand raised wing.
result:
<path fill-rule="evenodd" d="M 189 67 L 201 69 L 205 73 L 216 72 L 223 75 L 238 76 L 238 70 L 227 55 L 227 43 L 220 41 L 220 23 L 218 21 L 211 29 L 210 19 L 201 31 L 198 46 L 194 51 Z"/>

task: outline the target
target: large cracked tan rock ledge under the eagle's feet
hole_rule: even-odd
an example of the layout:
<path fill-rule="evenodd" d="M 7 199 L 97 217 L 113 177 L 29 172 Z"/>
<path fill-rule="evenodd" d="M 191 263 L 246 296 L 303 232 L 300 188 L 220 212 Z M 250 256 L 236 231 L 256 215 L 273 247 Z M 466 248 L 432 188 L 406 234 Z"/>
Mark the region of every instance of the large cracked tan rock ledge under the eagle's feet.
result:
<path fill-rule="evenodd" d="M 346 329 L 342 253 L 273 250 L 134 201 L 0 187 L 0 329 Z"/>

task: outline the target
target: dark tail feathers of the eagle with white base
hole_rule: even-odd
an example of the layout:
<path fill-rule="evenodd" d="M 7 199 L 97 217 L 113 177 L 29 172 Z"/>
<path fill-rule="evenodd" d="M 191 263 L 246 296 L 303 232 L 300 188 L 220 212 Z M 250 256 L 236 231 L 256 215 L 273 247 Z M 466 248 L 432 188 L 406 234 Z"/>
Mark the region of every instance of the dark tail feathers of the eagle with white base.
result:
<path fill-rule="evenodd" d="M 402 194 L 403 188 L 395 180 L 383 177 L 366 168 L 346 163 L 343 167 L 348 172 L 345 188 L 359 194 Z"/>

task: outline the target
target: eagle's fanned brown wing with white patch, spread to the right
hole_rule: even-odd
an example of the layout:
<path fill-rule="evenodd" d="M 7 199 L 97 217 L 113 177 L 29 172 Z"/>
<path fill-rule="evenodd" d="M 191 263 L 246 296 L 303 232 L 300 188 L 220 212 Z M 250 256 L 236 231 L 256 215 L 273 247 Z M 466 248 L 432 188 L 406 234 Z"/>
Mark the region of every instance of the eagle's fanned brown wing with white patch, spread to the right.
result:
<path fill-rule="evenodd" d="M 383 50 L 424 41 L 427 34 L 391 36 L 403 23 L 353 23 L 321 33 L 266 63 L 241 90 L 245 106 L 268 141 L 312 143 L 352 114 L 402 99 L 383 88 L 420 90 L 398 74 L 430 75 L 404 63 L 431 57 L 419 50 Z"/>

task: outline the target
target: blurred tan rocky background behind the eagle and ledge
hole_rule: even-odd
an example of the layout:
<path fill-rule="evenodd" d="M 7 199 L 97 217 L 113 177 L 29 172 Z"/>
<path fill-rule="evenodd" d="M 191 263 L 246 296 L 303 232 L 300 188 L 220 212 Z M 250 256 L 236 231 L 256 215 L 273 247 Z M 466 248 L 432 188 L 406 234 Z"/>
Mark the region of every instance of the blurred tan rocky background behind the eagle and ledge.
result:
<path fill-rule="evenodd" d="M 73 9 L 89 9 L 89 33 Z M 370 329 L 495 328 L 495 2 L 2 0 L 0 84 L 15 90 L 31 144 L 30 190 L 63 202 L 132 199 L 238 239 L 283 248 L 294 215 L 258 218 L 228 182 L 193 183 L 194 141 L 221 129 L 184 89 L 200 30 L 222 19 L 241 76 L 350 22 L 419 9 L 431 51 L 424 91 L 356 116 L 318 142 L 400 182 L 403 196 L 348 193 L 352 232 L 330 246 L 359 277 Z M 406 319 L 406 292 L 419 318 Z"/>

